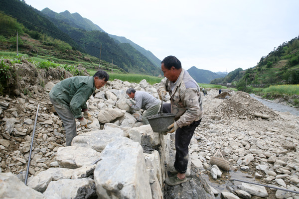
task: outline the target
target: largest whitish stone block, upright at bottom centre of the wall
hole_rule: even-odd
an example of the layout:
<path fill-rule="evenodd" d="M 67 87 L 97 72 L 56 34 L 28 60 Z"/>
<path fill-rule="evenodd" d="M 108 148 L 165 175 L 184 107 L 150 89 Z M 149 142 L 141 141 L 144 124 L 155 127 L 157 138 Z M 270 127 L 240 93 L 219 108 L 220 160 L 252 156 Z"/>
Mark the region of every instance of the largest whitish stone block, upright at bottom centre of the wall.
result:
<path fill-rule="evenodd" d="M 121 137 L 102 151 L 94 179 L 100 199 L 151 199 L 149 175 L 143 148 L 129 138 Z"/>

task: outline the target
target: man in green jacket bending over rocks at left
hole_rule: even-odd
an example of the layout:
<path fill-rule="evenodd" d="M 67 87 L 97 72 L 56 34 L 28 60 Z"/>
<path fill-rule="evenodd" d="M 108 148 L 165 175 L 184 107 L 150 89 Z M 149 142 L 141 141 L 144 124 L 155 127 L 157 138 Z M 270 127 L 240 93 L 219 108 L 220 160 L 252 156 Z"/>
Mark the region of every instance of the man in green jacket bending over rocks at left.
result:
<path fill-rule="evenodd" d="M 109 80 L 105 71 L 97 71 L 93 77 L 75 76 L 57 83 L 49 93 L 56 112 L 63 121 L 65 128 L 66 146 L 71 146 L 77 135 L 76 118 L 87 128 L 87 120 L 91 117 L 86 101 L 96 89 L 103 87 Z M 83 115 L 82 115 L 83 112 Z"/>

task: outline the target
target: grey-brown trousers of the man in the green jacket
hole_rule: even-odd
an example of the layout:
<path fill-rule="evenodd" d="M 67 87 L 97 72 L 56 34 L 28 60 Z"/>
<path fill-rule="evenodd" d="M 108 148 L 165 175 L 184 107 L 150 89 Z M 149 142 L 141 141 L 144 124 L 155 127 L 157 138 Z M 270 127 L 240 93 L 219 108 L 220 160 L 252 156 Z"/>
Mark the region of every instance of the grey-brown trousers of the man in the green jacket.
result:
<path fill-rule="evenodd" d="M 57 114 L 63 122 L 65 129 L 65 139 L 66 146 L 71 146 L 72 140 L 77 136 L 77 127 L 76 120 L 73 113 L 64 106 L 61 106 L 59 103 L 56 103 L 53 99 L 50 98 Z"/>

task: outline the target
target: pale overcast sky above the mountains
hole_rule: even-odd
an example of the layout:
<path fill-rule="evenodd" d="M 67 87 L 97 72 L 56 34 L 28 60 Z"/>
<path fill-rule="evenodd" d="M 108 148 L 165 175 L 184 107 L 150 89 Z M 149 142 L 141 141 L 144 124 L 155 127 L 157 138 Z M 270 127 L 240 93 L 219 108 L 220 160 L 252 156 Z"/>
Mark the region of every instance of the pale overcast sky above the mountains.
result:
<path fill-rule="evenodd" d="M 299 0 L 25 1 L 38 10 L 77 12 L 160 60 L 176 56 L 184 69 L 245 70 L 299 36 Z"/>

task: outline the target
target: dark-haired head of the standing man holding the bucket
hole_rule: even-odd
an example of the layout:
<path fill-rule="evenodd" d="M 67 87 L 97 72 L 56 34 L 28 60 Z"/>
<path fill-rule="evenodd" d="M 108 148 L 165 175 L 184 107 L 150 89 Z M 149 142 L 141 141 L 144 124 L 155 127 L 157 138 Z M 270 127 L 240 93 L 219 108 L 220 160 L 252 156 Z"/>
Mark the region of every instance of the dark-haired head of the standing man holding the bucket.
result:
<path fill-rule="evenodd" d="M 161 70 L 169 81 L 175 82 L 182 71 L 180 61 L 174 56 L 168 56 L 161 62 Z"/>

